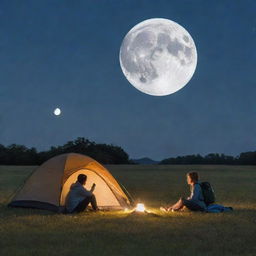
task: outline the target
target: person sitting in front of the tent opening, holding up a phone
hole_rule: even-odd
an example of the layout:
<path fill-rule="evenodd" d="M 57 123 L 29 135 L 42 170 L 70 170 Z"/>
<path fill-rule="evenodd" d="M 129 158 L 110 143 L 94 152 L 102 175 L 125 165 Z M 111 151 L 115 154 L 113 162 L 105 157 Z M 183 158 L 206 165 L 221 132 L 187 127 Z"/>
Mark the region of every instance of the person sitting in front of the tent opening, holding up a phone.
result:
<path fill-rule="evenodd" d="M 70 186 L 70 191 L 66 198 L 66 210 L 68 213 L 78 213 L 86 209 L 89 203 L 94 211 L 98 211 L 95 195 L 93 191 L 95 189 L 95 183 L 93 183 L 91 190 L 88 191 L 84 188 L 87 176 L 79 174 L 77 176 L 76 183 Z"/>

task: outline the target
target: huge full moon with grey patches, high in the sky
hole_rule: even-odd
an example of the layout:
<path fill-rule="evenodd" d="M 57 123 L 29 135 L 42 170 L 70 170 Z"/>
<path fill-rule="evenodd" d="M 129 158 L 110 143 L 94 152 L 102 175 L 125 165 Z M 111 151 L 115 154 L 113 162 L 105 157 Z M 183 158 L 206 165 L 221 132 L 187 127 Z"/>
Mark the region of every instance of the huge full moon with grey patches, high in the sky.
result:
<path fill-rule="evenodd" d="M 178 23 L 149 19 L 125 36 L 119 54 L 127 80 L 138 90 L 165 96 L 183 88 L 197 64 L 195 43 Z"/>

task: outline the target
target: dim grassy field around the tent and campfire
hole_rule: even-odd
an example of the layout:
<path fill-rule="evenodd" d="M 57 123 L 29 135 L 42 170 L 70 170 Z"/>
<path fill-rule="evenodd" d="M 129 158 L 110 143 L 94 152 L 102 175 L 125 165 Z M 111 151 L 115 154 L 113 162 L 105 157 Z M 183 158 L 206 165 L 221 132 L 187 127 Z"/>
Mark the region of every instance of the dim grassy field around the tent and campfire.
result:
<path fill-rule="evenodd" d="M 255 166 L 107 166 L 159 216 L 126 212 L 58 215 L 6 205 L 34 167 L 0 167 L 0 255 L 256 255 Z M 189 193 L 197 170 L 234 212 L 161 213 Z"/>

